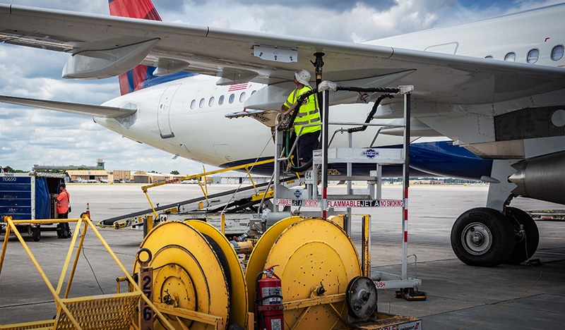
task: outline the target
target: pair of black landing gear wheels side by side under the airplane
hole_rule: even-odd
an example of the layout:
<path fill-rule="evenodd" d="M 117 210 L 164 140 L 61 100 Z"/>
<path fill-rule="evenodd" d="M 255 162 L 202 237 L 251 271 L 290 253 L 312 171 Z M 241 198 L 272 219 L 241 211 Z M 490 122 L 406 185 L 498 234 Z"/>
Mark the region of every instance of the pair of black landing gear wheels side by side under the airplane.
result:
<path fill-rule="evenodd" d="M 469 209 L 451 228 L 453 252 L 470 266 L 525 262 L 539 242 L 535 221 L 516 207 L 506 207 L 504 214 L 488 207 Z"/>

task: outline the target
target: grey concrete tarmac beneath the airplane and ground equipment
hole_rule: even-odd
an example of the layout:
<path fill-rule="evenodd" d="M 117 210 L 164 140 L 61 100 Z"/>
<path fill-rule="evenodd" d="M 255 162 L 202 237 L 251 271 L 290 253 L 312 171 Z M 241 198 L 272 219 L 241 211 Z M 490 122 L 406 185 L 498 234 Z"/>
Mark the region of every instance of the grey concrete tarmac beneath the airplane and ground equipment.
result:
<path fill-rule="evenodd" d="M 208 193 L 237 185 L 210 185 Z M 140 185 L 69 184 L 73 212 L 78 217 L 88 206 L 93 221 L 147 209 L 149 203 Z M 340 189 L 332 187 L 331 189 Z M 400 187 L 385 186 L 383 198 L 401 198 Z M 201 195 L 198 185 L 166 185 L 149 190 L 153 204 L 169 204 Z M 422 279 L 420 291 L 427 300 L 409 302 L 395 298 L 393 291 L 379 290 L 380 312 L 422 318 L 423 329 L 563 329 L 565 323 L 565 221 L 536 221 L 540 245 L 533 259 L 541 264 L 502 264 L 470 267 L 451 250 L 450 231 L 461 213 L 483 207 L 486 185 L 412 185 L 408 209 L 408 275 Z M 524 210 L 565 209 L 526 198 L 511 206 Z M 401 209 L 353 209 L 371 214 L 371 269 L 400 274 L 402 257 Z M 74 224 L 71 224 L 73 228 Z M 47 229 L 43 226 L 42 229 Z M 132 228 L 98 229 L 128 271 L 143 240 L 143 231 Z M 25 241 L 57 287 L 71 240 L 58 239 L 54 231 Z M 4 233 L 1 235 L 4 240 Z M 359 245 L 360 217 L 354 217 L 352 239 Z M 117 276 L 123 273 L 96 236 L 85 237 L 85 245 L 71 287 L 71 297 L 117 291 Z M 66 284 L 66 282 L 65 282 Z M 125 291 L 125 288 L 121 288 Z M 40 274 L 15 236 L 8 240 L 0 274 L 0 324 L 52 319 L 54 300 Z"/>

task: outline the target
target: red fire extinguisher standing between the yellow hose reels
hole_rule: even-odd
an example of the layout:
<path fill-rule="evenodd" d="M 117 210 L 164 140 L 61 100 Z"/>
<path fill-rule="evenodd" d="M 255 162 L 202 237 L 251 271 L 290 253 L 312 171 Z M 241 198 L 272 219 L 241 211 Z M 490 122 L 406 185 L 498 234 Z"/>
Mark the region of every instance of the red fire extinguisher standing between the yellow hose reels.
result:
<path fill-rule="evenodd" d="M 255 315 L 258 329 L 261 330 L 285 329 L 280 277 L 273 270 L 277 266 L 261 271 L 255 279 Z M 266 277 L 261 279 L 263 274 Z"/>

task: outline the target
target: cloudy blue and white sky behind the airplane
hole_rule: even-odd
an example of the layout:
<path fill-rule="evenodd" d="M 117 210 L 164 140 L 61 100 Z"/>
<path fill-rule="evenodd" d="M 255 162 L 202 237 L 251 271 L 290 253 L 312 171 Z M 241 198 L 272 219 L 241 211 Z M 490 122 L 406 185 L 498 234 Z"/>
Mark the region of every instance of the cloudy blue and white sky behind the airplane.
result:
<path fill-rule="evenodd" d="M 108 15 L 107 0 L 3 0 L 9 4 Z M 153 0 L 162 20 L 235 30 L 363 42 L 515 13 L 563 0 Z M 102 104 L 119 96 L 117 78 L 64 80 L 69 54 L 0 44 L 0 94 Z M 228 137 L 226 137 L 228 138 Z M 198 173 L 203 165 L 141 145 L 87 116 L 0 104 L 0 167 L 34 164 Z M 207 170 L 212 170 L 210 166 Z"/>

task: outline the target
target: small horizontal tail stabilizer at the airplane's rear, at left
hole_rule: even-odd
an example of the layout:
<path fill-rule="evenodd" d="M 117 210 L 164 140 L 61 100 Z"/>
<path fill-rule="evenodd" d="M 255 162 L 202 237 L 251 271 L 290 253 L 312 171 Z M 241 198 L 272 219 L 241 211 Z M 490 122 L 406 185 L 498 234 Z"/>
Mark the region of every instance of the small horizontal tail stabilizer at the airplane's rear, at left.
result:
<path fill-rule="evenodd" d="M 91 104 L 69 103 L 49 101 L 46 99 L 28 99 L 25 97 L 0 96 L 0 102 L 18 104 L 20 106 L 30 106 L 32 108 L 49 109 L 55 111 L 68 112 L 70 114 L 81 114 L 97 118 L 119 118 L 130 116 L 136 112 L 132 108 L 117 108 L 114 106 L 99 106 Z"/>

